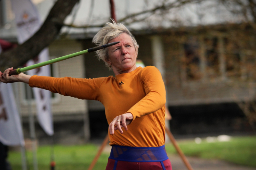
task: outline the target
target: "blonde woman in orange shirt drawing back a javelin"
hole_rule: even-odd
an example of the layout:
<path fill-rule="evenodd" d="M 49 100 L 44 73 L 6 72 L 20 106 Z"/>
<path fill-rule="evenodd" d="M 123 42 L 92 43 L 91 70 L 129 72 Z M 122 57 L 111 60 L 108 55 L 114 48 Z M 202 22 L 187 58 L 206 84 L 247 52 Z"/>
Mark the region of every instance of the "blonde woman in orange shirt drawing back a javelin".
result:
<path fill-rule="evenodd" d="M 65 96 L 100 101 L 105 107 L 112 146 L 107 170 L 170 170 L 164 148 L 165 88 L 161 73 L 153 66 L 136 67 L 139 45 L 123 24 L 107 23 L 92 40 L 96 45 L 115 41 L 120 43 L 96 52 L 115 77 L 53 78 L 23 73 L 9 76 L 10 68 L 0 80 L 20 81 Z"/>

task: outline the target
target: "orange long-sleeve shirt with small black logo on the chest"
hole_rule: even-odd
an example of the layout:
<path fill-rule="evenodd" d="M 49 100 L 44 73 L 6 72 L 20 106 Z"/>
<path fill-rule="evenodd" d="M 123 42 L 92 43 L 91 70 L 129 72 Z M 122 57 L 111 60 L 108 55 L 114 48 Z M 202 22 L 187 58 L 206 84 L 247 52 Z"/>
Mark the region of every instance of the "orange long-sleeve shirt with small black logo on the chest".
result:
<path fill-rule="evenodd" d="M 165 142 L 165 87 L 159 70 L 148 66 L 105 78 L 53 78 L 32 76 L 31 87 L 39 87 L 78 99 L 98 100 L 105 107 L 108 124 L 124 113 L 132 113 L 128 130 L 109 134 L 110 145 L 158 147 Z"/>

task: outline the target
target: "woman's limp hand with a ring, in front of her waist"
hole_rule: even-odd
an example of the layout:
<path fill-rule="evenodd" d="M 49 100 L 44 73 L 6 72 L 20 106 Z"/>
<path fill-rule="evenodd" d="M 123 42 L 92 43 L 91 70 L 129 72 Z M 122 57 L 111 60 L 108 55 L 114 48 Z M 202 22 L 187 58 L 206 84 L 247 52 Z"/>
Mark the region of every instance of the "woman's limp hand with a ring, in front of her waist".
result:
<path fill-rule="evenodd" d="M 119 130 L 121 134 L 123 134 L 122 127 L 125 130 L 128 130 L 127 125 L 130 124 L 133 120 L 133 115 L 131 113 L 125 113 L 123 115 L 116 116 L 115 119 L 109 124 L 108 129 L 110 135 L 115 133 L 115 130 Z M 116 125 L 116 126 L 115 126 Z"/>

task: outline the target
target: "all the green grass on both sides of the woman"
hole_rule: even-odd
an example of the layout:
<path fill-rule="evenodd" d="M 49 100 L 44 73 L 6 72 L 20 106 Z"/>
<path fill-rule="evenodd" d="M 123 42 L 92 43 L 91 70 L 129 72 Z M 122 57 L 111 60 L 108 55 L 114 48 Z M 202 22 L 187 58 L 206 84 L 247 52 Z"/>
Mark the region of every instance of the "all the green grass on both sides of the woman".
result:
<path fill-rule="evenodd" d="M 222 159 L 240 165 L 256 167 L 256 137 L 233 137 L 229 142 L 207 143 L 205 140 L 200 144 L 194 141 L 179 141 L 181 150 L 186 156 L 195 156 L 204 159 Z M 171 143 L 165 144 L 168 154 L 175 154 Z M 98 152 L 98 146 L 86 145 L 54 145 L 55 170 L 84 170 L 88 169 L 94 156 Z M 49 170 L 51 161 L 51 147 L 40 146 L 37 149 L 39 170 Z M 102 153 L 94 170 L 105 169 L 109 153 Z M 32 152 L 27 151 L 28 164 L 33 169 Z M 12 169 L 21 170 L 21 154 L 18 151 L 10 151 L 9 162 Z"/>

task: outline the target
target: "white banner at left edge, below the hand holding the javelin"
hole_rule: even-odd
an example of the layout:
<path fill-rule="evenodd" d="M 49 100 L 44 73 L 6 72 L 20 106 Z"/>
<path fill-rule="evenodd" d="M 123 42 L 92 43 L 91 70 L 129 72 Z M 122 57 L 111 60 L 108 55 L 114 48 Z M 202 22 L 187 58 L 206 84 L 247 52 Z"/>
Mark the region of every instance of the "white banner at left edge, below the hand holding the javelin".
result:
<path fill-rule="evenodd" d="M 8 146 L 25 145 L 12 85 L 5 83 L 0 83 L 0 141 Z"/>

